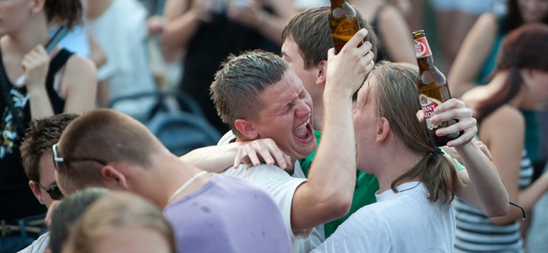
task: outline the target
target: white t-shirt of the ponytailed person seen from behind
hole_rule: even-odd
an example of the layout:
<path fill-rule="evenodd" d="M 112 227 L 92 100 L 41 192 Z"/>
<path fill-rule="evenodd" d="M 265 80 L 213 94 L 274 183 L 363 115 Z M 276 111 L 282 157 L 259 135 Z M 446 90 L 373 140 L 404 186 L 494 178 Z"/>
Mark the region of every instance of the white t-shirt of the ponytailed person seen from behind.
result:
<path fill-rule="evenodd" d="M 423 183 L 408 182 L 387 190 L 362 207 L 312 252 L 453 252 L 452 204 L 427 199 Z"/>

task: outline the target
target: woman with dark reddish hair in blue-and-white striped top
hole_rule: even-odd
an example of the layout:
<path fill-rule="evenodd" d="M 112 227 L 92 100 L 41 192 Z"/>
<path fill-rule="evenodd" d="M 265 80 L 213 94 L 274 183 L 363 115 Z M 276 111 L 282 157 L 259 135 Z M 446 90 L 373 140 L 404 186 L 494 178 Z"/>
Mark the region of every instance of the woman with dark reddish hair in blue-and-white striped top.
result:
<path fill-rule="evenodd" d="M 524 149 L 525 120 L 521 109 L 533 109 L 548 98 L 548 25 L 523 25 L 502 43 L 493 80 L 462 95 L 473 107 L 484 142 L 503 179 L 510 200 L 530 211 L 548 191 L 548 174 L 531 183 L 533 169 Z M 521 252 L 521 211 L 485 217 L 456 202 L 457 252 Z"/>

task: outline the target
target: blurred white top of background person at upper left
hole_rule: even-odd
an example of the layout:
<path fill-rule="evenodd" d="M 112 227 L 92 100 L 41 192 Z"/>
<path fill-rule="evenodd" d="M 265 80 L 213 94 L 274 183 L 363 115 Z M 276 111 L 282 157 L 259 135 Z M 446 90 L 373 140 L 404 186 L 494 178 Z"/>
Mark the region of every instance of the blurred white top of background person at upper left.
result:
<path fill-rule="evenodd" d="M 105 52 L 107 62 L 97 70 L 99 81 L 108 79 L 110 98 L 156 90 L 147 59 L 147 10 L 136 0 L 114 0 L 88 29 Z M 120 101 L 113 108 L 139 120 L 155 102 L 152 98 Z"/>

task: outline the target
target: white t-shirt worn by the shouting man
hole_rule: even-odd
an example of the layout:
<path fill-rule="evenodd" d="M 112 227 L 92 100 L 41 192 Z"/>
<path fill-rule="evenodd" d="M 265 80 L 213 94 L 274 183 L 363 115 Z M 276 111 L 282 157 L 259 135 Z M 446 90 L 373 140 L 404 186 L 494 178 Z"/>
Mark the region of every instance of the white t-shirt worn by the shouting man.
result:
<path fill-rule="evenodd" d="M 232 140 L 236 139 L 236 136 L 229 131 L 219 140 L 218 145 L 228 144 Z M 228 168 L 222 174 L 229 176 L 237 176 L 240 178 L 246 178 L 251 183 L 262 187 L 268 192 L 274 202 L 276 202 L 279 210 L 282 212 L 284 223 L 288 229 L 291 237 L 292 252 L 310 252 L 310 250 L 316 248 L 320 243 L 325 240 L 325 233 L 323 232 L 323 226 L 316 226 L 316 228 L 293 233 L 291 229 L 291 204 L 295 190 L 299 185 L 306 182 L 306 176 L 301 169 L 299 163 L 295 163 L 295 172 L 291 176 L 285 170 L 277 166 L 270 166 L 262 164 L 259 166 L 253 166 L 250 164 L 240 165 L 238 169 L 234 167 Z"/>

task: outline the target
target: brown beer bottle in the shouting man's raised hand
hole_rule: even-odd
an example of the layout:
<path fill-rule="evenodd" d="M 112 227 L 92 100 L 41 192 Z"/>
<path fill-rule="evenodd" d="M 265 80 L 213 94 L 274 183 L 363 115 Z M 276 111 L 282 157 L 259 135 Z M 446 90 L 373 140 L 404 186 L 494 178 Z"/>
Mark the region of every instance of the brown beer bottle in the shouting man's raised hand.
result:
<path fill-rule="evenodd" d="M 331 30 L 335 53 L 343 49 L 347 41 L 356 32 L 360 31 L 360 23 L 358 23 L 356 10 L 346 0 L 331 0 L 329 29 Z"/>

